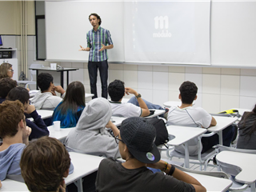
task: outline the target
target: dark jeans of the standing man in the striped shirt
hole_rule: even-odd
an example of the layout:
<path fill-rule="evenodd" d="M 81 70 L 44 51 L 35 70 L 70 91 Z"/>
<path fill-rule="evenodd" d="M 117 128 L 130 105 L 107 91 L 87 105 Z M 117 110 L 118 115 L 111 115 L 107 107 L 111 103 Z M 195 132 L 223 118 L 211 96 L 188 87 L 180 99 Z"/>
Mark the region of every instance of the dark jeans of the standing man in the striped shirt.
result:
<path fill-rule="evenodd" d="M 97 86 L 96 86 L 98 70 L 99 70 L 99 74 L 101 76 L 101 82 L 102 82 L 102 98 L 107 98 L 108 68 L 109 68 L 109 65 L 107 63 L 107 60 L 102 62 L 88 62 L 88 72 L 90 76 L 90 93 L 94 94 L 93 98 L 98 98 Z"/>

